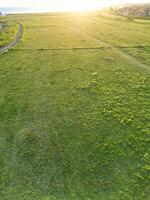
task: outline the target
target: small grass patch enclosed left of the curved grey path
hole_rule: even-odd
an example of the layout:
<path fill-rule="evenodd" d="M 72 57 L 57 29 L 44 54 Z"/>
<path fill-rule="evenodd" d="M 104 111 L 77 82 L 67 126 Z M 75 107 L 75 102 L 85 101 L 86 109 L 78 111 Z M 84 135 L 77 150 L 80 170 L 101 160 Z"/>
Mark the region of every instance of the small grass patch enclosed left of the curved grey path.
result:
<path fill-rule="evenodd" d="M 0 47 L 9 44 L 15 37 L 17 32 L 17 24 L 14 22 L 1 22 L 0 20 Z"/>

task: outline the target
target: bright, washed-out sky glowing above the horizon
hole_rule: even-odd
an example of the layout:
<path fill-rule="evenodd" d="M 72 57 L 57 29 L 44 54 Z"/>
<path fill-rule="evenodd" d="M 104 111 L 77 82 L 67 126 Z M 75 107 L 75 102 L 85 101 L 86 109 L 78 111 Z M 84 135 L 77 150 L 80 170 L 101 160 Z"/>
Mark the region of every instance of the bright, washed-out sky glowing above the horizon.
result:
<path fill-rule="evenodd" d="M 94 10 L 114 4 L 144 3 L 150 0 L 0 0 L 0 7 L 36 7 L 50 10 Z"/>

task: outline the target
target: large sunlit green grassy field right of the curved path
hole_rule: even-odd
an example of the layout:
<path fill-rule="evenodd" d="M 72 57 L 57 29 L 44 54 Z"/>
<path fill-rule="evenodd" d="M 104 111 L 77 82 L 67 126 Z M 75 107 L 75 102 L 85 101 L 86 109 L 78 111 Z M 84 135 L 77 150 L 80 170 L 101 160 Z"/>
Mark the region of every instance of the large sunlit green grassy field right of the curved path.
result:
<path fill-rule="evenodd" d="M 150 21 L 18 15 L 0 55 L 1 200 L 148 200 Z"/>

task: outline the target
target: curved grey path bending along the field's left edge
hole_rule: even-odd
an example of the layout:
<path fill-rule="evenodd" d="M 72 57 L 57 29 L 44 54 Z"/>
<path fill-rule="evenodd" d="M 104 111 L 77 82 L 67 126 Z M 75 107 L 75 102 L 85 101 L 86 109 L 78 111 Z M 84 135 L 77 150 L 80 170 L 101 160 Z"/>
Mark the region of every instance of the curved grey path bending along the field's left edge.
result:
<path fill-rule="evenodd" d="M 17 24 L 18 24 L 18 31 L 16 33 L 15 39 L 12 42 L 10 42 L 8 45 L 6 45 L 5 47 L 0 47 L 0 53 L 4 53 L 11 47 L 14 47 L 20 41 L 22 37 L 23 27 L 22 27 L 22 24 L 20 24 L 19 22 L 17 22 Z"/>

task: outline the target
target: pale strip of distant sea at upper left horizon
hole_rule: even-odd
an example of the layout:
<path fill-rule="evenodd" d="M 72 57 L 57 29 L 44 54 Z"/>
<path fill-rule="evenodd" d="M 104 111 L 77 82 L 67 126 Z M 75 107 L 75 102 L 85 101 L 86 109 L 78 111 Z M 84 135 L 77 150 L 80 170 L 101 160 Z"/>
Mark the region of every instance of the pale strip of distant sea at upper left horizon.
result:
<path fill-rule="evenodd" d="M 0 7 L 0 13 L 2 14 L 15 14 L 15 13 L 41 13 L 52 12 L 49 9 L 29 8 L 29 7 Z"/>

